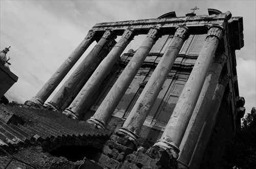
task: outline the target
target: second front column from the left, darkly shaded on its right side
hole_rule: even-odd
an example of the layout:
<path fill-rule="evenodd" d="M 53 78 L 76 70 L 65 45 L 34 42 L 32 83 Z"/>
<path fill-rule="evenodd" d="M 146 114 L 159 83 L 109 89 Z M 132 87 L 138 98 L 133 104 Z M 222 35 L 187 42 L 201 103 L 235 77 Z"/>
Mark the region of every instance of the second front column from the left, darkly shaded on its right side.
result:
<path fill-rule="evenodd" d="M 68 80 L 62 85 L 59 91 L 54 95 L 52 100 L 47 103 L 48 106 L 51 106 L 54 110 L 59 110 L 60 107 L 65 103 L 70 94 L 73 92 L 74 88 L 77 88 L 78 83 L 82 78 L 89 79 L 89 77 L 85 77 L 87 72 L 92 67 L 92 65 L 96 62 L 98 58 L 101 57 L 99 55 L 102 47 L 113 38 L 114 32 L 112 30 L 105 31 L 102 38 L 98 41 L 98 43 L 94 46 L 91 52 L 87 55 L 86 58 L 80 63 L 80 65 L 76 68 L 76 70 L 71 74 Z M 89 74 L 90 75 L 90 74 Z"/>

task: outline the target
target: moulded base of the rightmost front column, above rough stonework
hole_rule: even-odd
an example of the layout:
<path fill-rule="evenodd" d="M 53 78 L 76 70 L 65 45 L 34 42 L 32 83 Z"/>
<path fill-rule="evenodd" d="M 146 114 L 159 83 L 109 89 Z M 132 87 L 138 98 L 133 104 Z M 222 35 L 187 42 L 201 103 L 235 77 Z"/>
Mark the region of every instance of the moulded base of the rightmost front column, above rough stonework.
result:
<path fill-rule="evenodd" d="M 168 150 L 168 153 L 172 154 L 175 158 L 179 157 L 180 149 L 174 143 L 169 143 L 163 139 L 160 139 L 157 143 L 154 144 L 154 146 L 159 146 Z"/>

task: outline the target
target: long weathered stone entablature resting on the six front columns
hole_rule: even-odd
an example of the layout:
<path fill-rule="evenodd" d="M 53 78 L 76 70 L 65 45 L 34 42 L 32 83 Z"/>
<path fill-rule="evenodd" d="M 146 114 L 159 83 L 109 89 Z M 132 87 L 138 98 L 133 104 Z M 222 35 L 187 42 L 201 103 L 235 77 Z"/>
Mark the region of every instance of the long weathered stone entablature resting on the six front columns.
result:
<path fill-rule="evenodd" d="M 147 34 L 150 27 L 159 27 L 163 35 L 171 35 L 176 31 L 178 25 L 186 24 L 189 33 L 193 35 L 207 34 L 208 26 L 218 24 L 224 28 L 227 26 L 227 20 L 230 19 L 231 13 L 228 11 L 219 15 L 199 15 L 187 17 L 140 19 L 119 22 L 97 23 L 92 30 L 102 33 L 111 29 L 117 36 L 121 36 L 123 31 L 132 27 L 137 34 Z"/>

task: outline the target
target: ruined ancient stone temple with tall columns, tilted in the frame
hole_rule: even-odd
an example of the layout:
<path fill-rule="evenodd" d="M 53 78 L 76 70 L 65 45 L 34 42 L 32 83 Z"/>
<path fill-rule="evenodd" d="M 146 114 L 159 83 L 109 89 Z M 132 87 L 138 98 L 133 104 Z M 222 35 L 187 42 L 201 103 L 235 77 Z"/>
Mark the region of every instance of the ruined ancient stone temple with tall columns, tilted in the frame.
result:
<path fill-rule="evenodd" d="M 235 54 L 244 45 L 243 18 L 208 12 L 97 23 L 23 107 L 53 110 L 94 134 L 110 133 L 79 168 L 217 168 L 245 112 Z M 146 35 L 141 45 L 123 53 L 140 35 Z M 83 130 L 90 134 L 90 127 Z"/>

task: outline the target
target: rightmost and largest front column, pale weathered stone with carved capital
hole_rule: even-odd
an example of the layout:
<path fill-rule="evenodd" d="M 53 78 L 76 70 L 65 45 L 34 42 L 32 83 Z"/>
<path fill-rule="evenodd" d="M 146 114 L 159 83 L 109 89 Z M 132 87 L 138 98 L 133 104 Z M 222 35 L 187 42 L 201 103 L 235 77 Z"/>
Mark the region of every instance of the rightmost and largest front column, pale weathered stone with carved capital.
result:
<path fill-rule="evenodd" d="M 221 26 L 210 26 L 205 43 L 179 97 L 173 114 L 165 127 L 161 139 L 155 145 L 179 152 L 181 140 L 196 106 L 210 63 L 214 58 L 215 51 L 222 37 L 223 29 Z"/>

